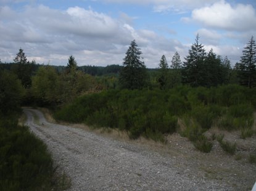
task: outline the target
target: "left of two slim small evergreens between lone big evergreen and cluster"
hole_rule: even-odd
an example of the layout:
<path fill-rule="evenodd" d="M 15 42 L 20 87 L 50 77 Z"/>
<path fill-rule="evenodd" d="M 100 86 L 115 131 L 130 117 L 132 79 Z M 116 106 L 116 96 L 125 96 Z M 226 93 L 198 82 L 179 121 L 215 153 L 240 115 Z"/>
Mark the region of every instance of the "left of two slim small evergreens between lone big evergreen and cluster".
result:
<path fill-rule="evenodd" d="M 160 60 L 159 68 L 160 68 L 160 75 L 158 78 L 158 82 L 160 84 L 160 88 L 165 89 L 167 87 L 167 80 L 168 80 L 168 63 L 165 58 L 165 55 L 163 55 Z"/>

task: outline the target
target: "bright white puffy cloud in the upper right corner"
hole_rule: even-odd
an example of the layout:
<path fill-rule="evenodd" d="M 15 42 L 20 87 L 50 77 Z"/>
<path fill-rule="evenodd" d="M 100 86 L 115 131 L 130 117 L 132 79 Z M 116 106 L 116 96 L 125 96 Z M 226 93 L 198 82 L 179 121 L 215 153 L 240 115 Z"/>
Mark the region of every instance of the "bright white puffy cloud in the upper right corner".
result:
<path fill-rule="evenodd" d="M 192 20 L 204 26 L 235 31 L 256 30 L 256 12 L 252 5 L 231 6 L 224 0 L 212 6 L 194 9 Z"/>

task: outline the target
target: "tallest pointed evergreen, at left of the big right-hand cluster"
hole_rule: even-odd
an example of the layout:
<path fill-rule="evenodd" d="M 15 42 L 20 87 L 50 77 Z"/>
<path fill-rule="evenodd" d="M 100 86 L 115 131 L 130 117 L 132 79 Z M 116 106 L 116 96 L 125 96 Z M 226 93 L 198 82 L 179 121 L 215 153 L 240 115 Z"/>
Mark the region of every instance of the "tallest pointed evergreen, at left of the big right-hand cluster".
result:
<path fill-rule="evenodd" d="M 193 87 L 204 84 L 203 64 L 205 61 L 204 45 L 199 44 L 199 34 L 196 36 L 196 42 L 192 44 L 189 55 L 185 58 L 183 64 L 183 82 Z"/>

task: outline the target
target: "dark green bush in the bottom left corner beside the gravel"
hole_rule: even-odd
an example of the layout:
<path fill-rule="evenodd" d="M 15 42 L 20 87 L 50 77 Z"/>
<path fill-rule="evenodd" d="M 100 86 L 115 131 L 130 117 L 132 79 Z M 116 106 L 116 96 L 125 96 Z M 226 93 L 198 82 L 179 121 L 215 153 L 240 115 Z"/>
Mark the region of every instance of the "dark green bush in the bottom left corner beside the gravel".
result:
<path fill-rule="evenodd" d="M 46 144 L 13 117 L 0 119 L 0 190 L 51 189 L 54 168 Z"/>

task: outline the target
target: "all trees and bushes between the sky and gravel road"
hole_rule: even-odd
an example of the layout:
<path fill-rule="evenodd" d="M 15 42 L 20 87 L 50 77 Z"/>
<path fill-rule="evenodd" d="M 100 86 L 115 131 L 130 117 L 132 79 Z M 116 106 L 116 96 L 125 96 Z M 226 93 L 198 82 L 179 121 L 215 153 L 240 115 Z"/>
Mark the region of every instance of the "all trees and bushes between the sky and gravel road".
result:
<path fill-rule="evenodd" d="M 27 127 L 18 125 L 21 106 L 47 107 L 56 120 L 115 128 L 127 132 L 131 139 L 143 136 L 164 143 L 167 134 L 180 133 L 202 152 L 211 151 L 213 139 L 229 154 L 236 150 L 235 144 L 223 141 L 221 135 L 205 136 L 212 127 L 240 131 L 242 139 L 255 134 L 254 37 L 234 66 L 227 57 L 213 50 L 206 52 L 198 35 L 183 63 L 176 52 L 170 64 L 163 55 L 159 68 L 147 69 L 141 54 L 134 40 L 122 66 L 78 67 L 73 55 L 67 66 L 37 64 L 28 61 L 22 49 L 14 63 L 0 60 L 0 171 L 5 172 L 0 174 L 0 186 L 35 189 L 36 185 L 20 183 L 27 180 L 17 177 L 35 178 L 33 173 L 41 173 L 43 168 L 39 165 L 47 166 L 45 174 L 52 174 L 51 156 L 43 142 L 35 144 L 44 150 L 40 154 L 27 146 L 29 141 L 37 141 Z M 25 157 L 31 153 L 34 155 Z M 47 179 L 40 177 L 38 184 L 49 184 L 43 181 Z"/>

